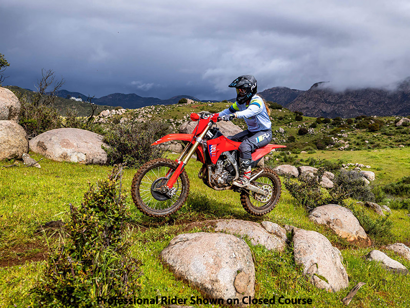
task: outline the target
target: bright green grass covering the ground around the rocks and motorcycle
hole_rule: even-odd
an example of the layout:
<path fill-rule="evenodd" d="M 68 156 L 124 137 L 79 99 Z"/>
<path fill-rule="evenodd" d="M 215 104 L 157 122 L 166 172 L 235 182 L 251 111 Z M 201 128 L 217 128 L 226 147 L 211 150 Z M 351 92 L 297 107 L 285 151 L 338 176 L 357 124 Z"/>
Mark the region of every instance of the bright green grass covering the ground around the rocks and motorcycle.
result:
<path fill-rule="evenodd" d="M 318 151 L 315 155 L 303 154 L 299 157 L 330 157 L 335 160 L 353 160 L 352 162 L 357 160 L 359 163 L 383 168 L 375 173 L 377 178 L 382 179 L 380 182 L 384 182 L 387 180 L 382 178 L 384 173 L 381 172 L 389 172 L 389 179 L 392 180 L 406 175 L 407 169 L 403 165 L 406 154 L 408 154 L 407 149 L 386 149 L 385 152 L 378 153 L 327 151 L 324 155 Z M 379 155 L 383 155 L 384 159 L 371 157 Z M 386 161 L 387 156 L 391 160 Z M 40 159 L 37 155 L 32 157 L 36 160 Z M 175 156 L 170 155 L 169 158 Z M 2 162 L 2 165 L 4 164 L 6 163 Z M 98 179 L 106 178 L 111 170 L 108 166 L 59 163 L 48 159 L 43 159 L 40 164 L 41 169 L 26 168 L 23 165 L 0 168 L 0 262 L 7 258 L 30 257 L 41 250 L 38 247 L 47 246 L 47 241 L 51 246 L 57 244 L 58 237 L 48 234 L 46 238 L 45 235 L 36 233 L 38 226 L 51 220 L 66 221 L 69 204 L 80 204 L 88 189 L 88 183 L 93 184 Z M 201 164 L 194 160 L 189 162 L 186 167 L 190 178 L 188 201 L 176 214 L 166 219 L 153 219 L 139 213 L 129 193 L 136 170 L 125 170 L 122 187 L 128 194 L 126 202 L 129 206 L 130 220 L 127 233 L 132 243 L 130 254 L 141 262 L 141 275 L 136 278 L 140 285 L 137 290 L 139 297 L 178 296 L 187 299 L 191 296 L 201 297 L 198 290 L 176 279 L 160 263 L 159 253 L 175 235 L 185 233 L 186 226 L 190 222 L 235 218 L 256 222 L 269 220 L 282 226 L 292 224 L 320 232 L 341 250 L 343 263 L 350 279 L 349 287 L 338 293 L 318 290 L 304 279 L 301 268 L 295 265 L 292 247 L 286 248 L 283 253 L 277 253 L 267 251 L 261 246 L 253 246 L 248 241 L 256 268 L 256 298 L 273 296 L 278 298 L 282 295 L 288 298 L 312 298 L 313 304 L 310 305 L 312 307 L 342 307 L 344 305 L 340 299 L 346 296 L 359 281 L 363 281 L 366 285 L 359 290 L 349 306 L 366 308 L 409 306 L 410 294 L 407 290 L 410 285 L 410 275 L 394 275 L 377 264 L 365 261 L 362 257 L 370 251 L 370 248 L 358 248 L 337 237 L 329 228 L 311 222 L 306 211 L 297 205 L 284 188 L 277 207 L 269 215 L 257 218 L 245 212 L 240 204 L 239 194 L 233 191 L 215 191 L 205 186 L 197 178 L 200 166 Z M 395 171 L 393 171 L 394 167 L 397 167 Z M 376 218 L 371 211 L 366 210 L 366 213 Z M 391 219 L 394 222 L 395 240 L 408 243 L 410 218 L 405 215 L 404 210 L 393 210 Z M 190 232 L 198 230 L 201 229 L 193 229 Z M 21 247 L 30 244 L 29 251 L 24 254 L 15 253 L 20 251 Z M 38 247 L 34 247 L 34 244 Z M 386 254 L 410 268 L 409 261 L 392 252 Z M 44 266 L 45 262 L 41 261 L 0 267 L 0 294 L 2 294 L 0 306 L 30 305 L 33 298 L 29 290 L 40 277 Z M 190 304 L 189 300 L 187 304 Z M 160 305 L 149 307 L 160 307 Z"/>

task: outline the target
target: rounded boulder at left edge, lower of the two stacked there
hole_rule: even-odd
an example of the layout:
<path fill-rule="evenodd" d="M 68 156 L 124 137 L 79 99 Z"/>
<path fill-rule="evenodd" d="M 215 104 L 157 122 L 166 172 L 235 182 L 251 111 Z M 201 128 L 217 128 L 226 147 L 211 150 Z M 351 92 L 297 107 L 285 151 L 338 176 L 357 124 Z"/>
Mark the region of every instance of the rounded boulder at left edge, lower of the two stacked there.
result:
<path fill-rule="evenodd" d="M 0 161 L 21 159 L 29 152 L 29 140 L 24 128 L 15 121 L 0 121 Z"/>

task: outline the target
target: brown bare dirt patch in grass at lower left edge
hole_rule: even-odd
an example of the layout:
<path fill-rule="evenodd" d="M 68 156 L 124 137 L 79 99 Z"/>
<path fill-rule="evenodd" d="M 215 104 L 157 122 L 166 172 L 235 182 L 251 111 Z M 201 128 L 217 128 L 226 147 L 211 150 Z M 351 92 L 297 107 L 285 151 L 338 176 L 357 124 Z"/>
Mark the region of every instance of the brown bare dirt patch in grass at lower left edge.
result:
<path fill-rule="evenodd" d="M 3 252 L 7 257 L 0 260 L 0 267 L 24 264 L 29 261 L 43 261 L 47 259 L 48 247 L 41 241 L 19 244 L 9 247 Z"/>

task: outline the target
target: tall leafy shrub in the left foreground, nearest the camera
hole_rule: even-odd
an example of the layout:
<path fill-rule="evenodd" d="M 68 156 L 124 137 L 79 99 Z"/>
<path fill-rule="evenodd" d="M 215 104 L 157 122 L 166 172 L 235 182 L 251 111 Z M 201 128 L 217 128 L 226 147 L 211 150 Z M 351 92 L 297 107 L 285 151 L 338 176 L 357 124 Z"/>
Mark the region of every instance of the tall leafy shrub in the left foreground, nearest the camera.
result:
<path fill-rule="evenodd" d="M 122 171 L 90 186 L 79 208 L 70 204 L 63 244 L 48 257 L 43 279 L 32 289 L 43 307 L 101 307 L 97 296 L 135 295 L 136 260 L 127 257 Z M 108 305 L 102 305 L 108 306 Z"/>

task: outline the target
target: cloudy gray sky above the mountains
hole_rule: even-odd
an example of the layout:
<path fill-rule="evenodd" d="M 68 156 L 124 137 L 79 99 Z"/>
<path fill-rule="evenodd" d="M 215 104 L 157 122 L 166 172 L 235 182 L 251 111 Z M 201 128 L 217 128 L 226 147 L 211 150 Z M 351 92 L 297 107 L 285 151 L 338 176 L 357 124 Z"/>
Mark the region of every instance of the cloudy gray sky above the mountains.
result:
<path fill-rule="evenodd" d="M 41 69 L 63 88 L 168 99 L 258 90 L 384 86 L 410 76 L 408 0 L 0 0 L 4 85 L 34 89 Z"/>

